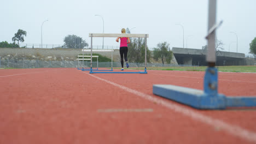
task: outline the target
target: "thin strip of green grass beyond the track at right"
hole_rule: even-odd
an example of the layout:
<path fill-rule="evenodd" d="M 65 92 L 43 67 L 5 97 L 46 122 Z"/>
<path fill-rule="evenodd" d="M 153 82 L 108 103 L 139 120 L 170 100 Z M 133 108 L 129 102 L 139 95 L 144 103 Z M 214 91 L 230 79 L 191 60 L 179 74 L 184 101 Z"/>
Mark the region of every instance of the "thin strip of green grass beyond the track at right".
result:
<path fill-rule="evenodd" d="M 148 67 L 147 70 L 205 71 L 207 67 Z M 256 73 L 256 66 L 217 66 L 218 71 Z M 144 70 L 144 68 L 129 68 Z"/>

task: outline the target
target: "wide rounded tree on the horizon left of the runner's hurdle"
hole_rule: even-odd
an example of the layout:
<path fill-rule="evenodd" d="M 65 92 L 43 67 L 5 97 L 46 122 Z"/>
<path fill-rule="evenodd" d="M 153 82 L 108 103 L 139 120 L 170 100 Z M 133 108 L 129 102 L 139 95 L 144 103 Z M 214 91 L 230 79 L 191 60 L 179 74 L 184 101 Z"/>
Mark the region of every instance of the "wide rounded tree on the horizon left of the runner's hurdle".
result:
<path fill-rule="evenodd" d="M 88 46 L 85 40 L 77 35 L 67 35 L 64 40 L 65 42 L 64 47 L 74 48 L 74 49 L 83 49 L 85 46 Z"/>

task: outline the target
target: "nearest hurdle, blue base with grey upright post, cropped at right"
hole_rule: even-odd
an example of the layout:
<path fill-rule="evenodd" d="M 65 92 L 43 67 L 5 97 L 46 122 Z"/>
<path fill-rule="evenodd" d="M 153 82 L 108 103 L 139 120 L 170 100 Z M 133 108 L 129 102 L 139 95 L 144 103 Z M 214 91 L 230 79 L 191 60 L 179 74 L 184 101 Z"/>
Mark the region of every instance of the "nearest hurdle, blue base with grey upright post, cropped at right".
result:
<path fill-rule="evenodd" d="M 196 109 L 226 109 L 227 107 L 255 107 L 256 97 L 226 97 L 218 93 L 218 71 L 215 68 L 216 29 L 216 0 L 209 0 L 208 9 L 208 50 L 206 61 L 208 68 L 205 71 L 203 91 L 173 85 L 153 85 L 153 93 L 189 105 Z"/>

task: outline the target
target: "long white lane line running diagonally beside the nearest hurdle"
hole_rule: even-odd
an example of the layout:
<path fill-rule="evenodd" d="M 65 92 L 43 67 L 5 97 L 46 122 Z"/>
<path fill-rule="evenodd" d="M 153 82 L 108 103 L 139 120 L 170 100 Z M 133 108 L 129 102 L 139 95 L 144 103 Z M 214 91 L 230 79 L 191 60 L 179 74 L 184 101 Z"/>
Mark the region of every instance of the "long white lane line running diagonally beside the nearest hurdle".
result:
<path fill-rule="evenodd" d="M 85 73 L 84 71 L 82 71 L 82 72 Z M 85 74 L 88 74 L 88 73 L 85 73 Z M 229 133 L 231 135 L 241 137 L 242 139 L 245 139 L 245 140 L 248 140 L 248 141 L 256 142 L 256 133 L 254 133 L 253 131 L 243 129 L 243 128 L 238 127 L 236 125 L 225 123 L 225 122 L 223 122 L 219 119 L 216 119 L 216 118 L 211 118 L 211 117 L 202 115 L 201 113 L 196 112 L 195 110 L 191 110 L 191 109 L 179 106 L 177 104 L 170 103 L 167 100 L 162 100 L 162 99 L 153 97 L 152 95 L 141 93 L 141 92 L 136 91 L 134 89 L 131 89 L 131 88 L 119 85 L 117 83 L 102 79 L 102 78 L 97 77 L 93 74 L 88 74 L 88 75 L 90 75 L 92 77 L 95 77 L 98 80 L 107 82 L 110 85 L 113 85 L 115 87 L 121 88 L 124 91 L 130 92 L 132 94 L 138 95 L 139 97 L 142 97 L 144 99 L 152 101 L 153 103 L 165 106 L 168 109 L 171 109 L 173 111 L 182 113 L 185 116 L 188 116 L 188 117 L 191 117 L 191 118 L 195 119 L 195 121 L 200 121 L 202 123 L 208 124 L 213 128 L 218 127 L 220 130 L 226 131 L 227 133 Z"/>

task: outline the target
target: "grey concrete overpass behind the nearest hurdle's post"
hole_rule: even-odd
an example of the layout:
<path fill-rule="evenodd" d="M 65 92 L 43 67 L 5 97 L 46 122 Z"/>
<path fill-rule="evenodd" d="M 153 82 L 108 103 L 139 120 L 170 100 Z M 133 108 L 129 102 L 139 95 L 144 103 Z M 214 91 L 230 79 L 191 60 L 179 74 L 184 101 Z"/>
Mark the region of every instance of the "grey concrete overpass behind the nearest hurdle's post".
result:
<path fill-rule="evenodd" d="M 179 65 L 207 65 L 206 51 L 172 47 L 172 52 Z M 217 51 L 216 65 L 245 65 L 245 53 Z"/>

